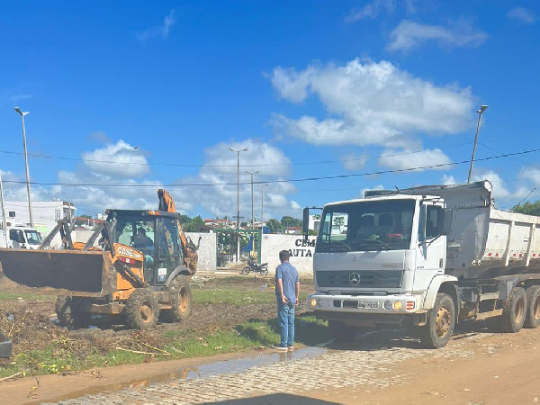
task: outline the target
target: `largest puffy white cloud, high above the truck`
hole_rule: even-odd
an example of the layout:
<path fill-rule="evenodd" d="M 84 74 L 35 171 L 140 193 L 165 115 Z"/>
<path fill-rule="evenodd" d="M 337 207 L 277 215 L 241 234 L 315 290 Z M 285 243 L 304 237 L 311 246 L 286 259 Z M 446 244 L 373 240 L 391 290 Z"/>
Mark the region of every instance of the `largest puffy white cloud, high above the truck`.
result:
<path fill-rule="evenodd" d="M 473 123 L 469 88 L 435 85 L 387 61 L 354 59 L 343 66 L 312 65 L 298 72 L 275 67 L 272 83 L 293 103 L 316 94 L 328 119 L 274 114 L 271 124 L 284 137 L 314 145 L 410 146 L 417 132 L 459 133 Z"/>

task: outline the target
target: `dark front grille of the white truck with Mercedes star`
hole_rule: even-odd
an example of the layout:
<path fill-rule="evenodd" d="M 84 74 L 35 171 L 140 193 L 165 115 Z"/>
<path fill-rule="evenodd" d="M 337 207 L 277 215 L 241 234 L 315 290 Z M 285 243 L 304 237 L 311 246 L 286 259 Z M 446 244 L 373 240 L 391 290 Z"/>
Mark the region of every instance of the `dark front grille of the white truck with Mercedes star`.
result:
<path fill-rule="evenodd" d="M 360 281 L 351 284 L 351 278 Z M 400 288 L 403 272 L 401 270 L 376 270 L 376 271 L 329 271 L 316 272 L 317 284 L 320 287 L 355 287 L 355 288 Z"/>

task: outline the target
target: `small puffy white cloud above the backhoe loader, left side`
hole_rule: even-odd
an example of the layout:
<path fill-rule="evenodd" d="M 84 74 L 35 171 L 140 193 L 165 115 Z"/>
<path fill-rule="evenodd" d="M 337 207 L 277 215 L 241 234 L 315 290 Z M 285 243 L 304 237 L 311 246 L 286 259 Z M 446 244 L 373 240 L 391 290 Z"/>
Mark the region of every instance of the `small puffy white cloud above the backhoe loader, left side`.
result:
<path fill-rule="evenodd" d="M 146 157 L 139 149 L 123 140 L 101 149 L 95 149 L 93 152 L 85 152 L 82 157 L 85 165 L 94 173 L 130 178 L 140 177 L 149 172 Z"/>

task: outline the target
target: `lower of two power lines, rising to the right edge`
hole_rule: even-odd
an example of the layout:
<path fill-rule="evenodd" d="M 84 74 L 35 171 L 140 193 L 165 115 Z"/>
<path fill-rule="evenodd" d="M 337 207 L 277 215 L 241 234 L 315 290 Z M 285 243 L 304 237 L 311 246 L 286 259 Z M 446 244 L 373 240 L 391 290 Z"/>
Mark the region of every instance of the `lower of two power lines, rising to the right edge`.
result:
<path fill-rule="evenodd" d="M 488 161 L 488 160 L 499 159 L 502 157 L 514 157 L 514 156 L 520 156 L 520 155 L 527 155 L 529 153 L 535 153 L 535 152 L 540 152 L 540 148 L 523 150 L 521 152 L 505 153 L 502 155 L 492 156 L 492 157 L 482 157 L 482 158 L 474 159 L 474 161 L 483 162 L 483 161 Z M 467 160 L 461 160 L 457 162 L 440 163 L 437 165 L 415 166 L 415 167 L 407 167 L 407 168 L 393 169 L 393 170 L 379 170 L 376 172 L 368 172 L 368 173 L 355 173 L 355 174 L 349 174 L 349 175 L 325 175 L 325 176 L 317 176 L 317 177 L 304 177 L 304 178 L 297 178 L 297 179 L 293 178 L 293 179 L 283 179 L 283 180 L 267 180 L 267 181 L 258 181 L 255 183 L 256 184 L 302 183 L 302 182 L 311 182 L 311 181 L 317 181 L 317 180 L 333 180 L 333 179 L 338 179 L 338 178 L 361 177 L 365 175 L 386 175 L 390 173 L 406 173 L 406 172 L 412 172 L 415 170 L 425 170 L 425 169 L 434 169 L 434 168 L 440 168 L 440 167 L 446 167 L 446 166 L 464 165 L 464 164 L 469 164 L 470 162 L 471 160 L 467 159 Z M 15 180 L 4 180 L 4 183 L 26 184 L 26 182 L 15 181 Z M 69 184 L 69 183 L 31 182 L 31 184 L 66 185 L 66 186 L 76 186 L 76 187 L 205 187 L 205 186 L 216 186 L 216 185 L 236 185 L 237 183 L 228 182 L 228 183 L 191 183 L 191 184 L 187 184 L 187 183 L 185 184 L 91 184 L 91 183 Z M 239 184 L 251 184 L 251 182 L 242 182 Z"/>

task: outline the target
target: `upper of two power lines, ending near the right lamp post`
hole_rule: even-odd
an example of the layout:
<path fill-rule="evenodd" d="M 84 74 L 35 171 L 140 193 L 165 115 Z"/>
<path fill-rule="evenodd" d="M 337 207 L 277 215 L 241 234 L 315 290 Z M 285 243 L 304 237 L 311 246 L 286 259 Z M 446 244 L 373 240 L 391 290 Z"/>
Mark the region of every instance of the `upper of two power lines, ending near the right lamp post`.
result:
<path fill-rule="evenodd" d="M 470 145 L 472 142 L 464 142 L 458 145 L 447 146 L 445 148 L 459 148 L 465 145 Z M 311 162 L 296 162 L 296 163 L 260 163 L 260 164 L 251 164 L 251 165 L 240 165 L 240 167 L 258 167 L 258 166 L 307 166 L 307 165 L 323 165 L 329 163 L 345 163 L 345 162 L 354 162 L 354 161 L 367 161 L 371 158 L 378 157 L 395 157 L 403 155 L 414 155 L 418 153 L 426 152 L 426 149 L 419 150 L 410 150 L 407 152 L 401 153 L 392 153 L 392 154 L 383 154 L 374 157 L 351 157 L 347 159 L 329 159 L 329 160 L 319 160 Z M 0 149 L 0 153 L 5 153 L 8 155 L 19 155 L 23 156 L 23 152 L 15 152 L 14 150 L 5 150 Z M 500 152 L 498 152 L 500 153 Z M 41 157 L 49 159 L 58 159 L 58 160 L 68 160 L 76 162 L 93 162 L 93 163 L 107 163 L 112 165 L 136 165 L 136 166 L 172 166 L 172 167 L 236 167 L 237 165 L 195 165 L 191 163 L 159 163 L 159 162 L 118 162 L 114 160 L 100 160 L 100 159 L 86 159 L 83 157 L 62 157 L 62 156 L 51 156 L 51 155 L 41 155 L 37 153 L 29 153 L 30 157 Z"/>

